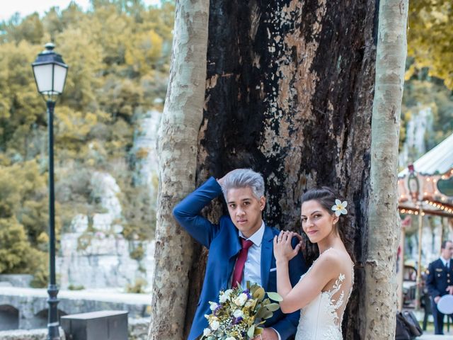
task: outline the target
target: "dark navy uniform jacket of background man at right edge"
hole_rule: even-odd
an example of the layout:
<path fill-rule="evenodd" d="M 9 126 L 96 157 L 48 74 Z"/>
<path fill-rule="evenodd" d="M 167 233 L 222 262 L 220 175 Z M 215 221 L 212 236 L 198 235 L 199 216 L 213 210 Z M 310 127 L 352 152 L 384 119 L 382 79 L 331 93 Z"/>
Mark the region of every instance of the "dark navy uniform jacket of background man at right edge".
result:
<path fill-rule="evenodd" d="M 432 298 L 447 295 L 447 286 L 453 285 L 453 261 L 449 260 L 449 269 L 445 268 L 441 259 L 433 261 L 428 266 L 426 287 Z"/>

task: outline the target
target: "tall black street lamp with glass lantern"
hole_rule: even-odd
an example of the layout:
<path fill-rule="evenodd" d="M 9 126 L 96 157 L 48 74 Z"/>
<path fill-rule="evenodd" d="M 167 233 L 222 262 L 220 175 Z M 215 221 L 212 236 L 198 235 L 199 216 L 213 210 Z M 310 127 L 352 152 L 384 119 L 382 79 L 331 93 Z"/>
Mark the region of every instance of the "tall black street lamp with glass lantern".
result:
<path fill-rule="evenodd" d="M 35 75 L 38 92 L 47 103 L 47 118 L 49 131 L 49 266 L 50 283 L 47 288 L 49 304 L 47 329 L 48 340 L 59 340 L 59 321 L 57 305 L 58 288 L 55 280 L 55 191 L 54 191 L 54 108 L 57 97 L 62 94 L 64 82 L 68 71 L 62 56 L 54 52 L 55 45 L 47 43 L 45 50 L 36 57 L 33 62 L 33 74 Z"/>

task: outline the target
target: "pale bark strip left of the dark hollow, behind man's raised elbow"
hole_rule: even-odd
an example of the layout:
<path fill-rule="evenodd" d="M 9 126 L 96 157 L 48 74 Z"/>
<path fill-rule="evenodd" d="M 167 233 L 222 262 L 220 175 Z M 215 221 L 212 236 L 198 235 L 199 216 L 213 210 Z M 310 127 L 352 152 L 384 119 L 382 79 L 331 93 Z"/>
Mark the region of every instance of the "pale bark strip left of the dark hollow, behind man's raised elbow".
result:
<path fill-rule="evenodd" d="M 195 188 L 197 133 L 205 101 L 209 1 L 176 4 L 171 74 L 159 128 L 159 193 L 148 339 L 184 339 L 193 240 L 171 214 Z"/>

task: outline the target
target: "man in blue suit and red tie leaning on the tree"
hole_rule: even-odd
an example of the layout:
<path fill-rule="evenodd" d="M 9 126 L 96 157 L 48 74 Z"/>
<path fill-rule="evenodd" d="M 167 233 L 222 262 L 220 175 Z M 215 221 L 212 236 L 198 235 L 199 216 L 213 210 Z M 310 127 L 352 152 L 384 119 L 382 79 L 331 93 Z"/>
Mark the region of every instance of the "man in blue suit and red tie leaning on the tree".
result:
<path fill-rule="evenodd" d="M 214 225 L 200 215 L 202 208 L 224 193 L 229 216 L 222 216 Z M 211 314 L 209 302 L 217 302 L 219 291 L 243 287 L 246 281 L 258 283 L 266 292 L 276 292 L 276 267 L 273 237 L 278 230 L 265 225 L 263 176 L 250 169 L 236 169 L 222 179 L 208 179 L 173 210 L 173 215 L 193 238 L 209 249 L 205 280 L 188 339 L 201 336 L 208 327 L 205 314 Z M 295 240 L 296 241 L 296 240 Z M 296 242 L 297 243 L 297 242 Z M 289 262 L 289 274 L 294 286 L 306 271 L 302 255 Z M 294 335 L 299 312 L 274 312 L 264 324 L 263 340 L 286 340 Z"/>

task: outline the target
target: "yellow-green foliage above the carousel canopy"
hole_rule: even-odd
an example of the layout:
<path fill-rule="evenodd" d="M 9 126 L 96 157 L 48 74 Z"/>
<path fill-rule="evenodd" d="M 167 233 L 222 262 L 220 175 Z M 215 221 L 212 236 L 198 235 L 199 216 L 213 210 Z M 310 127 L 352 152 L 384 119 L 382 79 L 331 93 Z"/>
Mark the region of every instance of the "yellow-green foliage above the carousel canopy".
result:
<path fill-rule="evenodd" d="M 408 61 L 401 110 L 400 150 L 408 122 L 422 110 L 432 112 L 432 130 L 425 134 L 426 150 L 453 132 L 452 2 L 419 0 L 409 4 Z M 409 160 L 421 156 L 409 149 Z"/>

